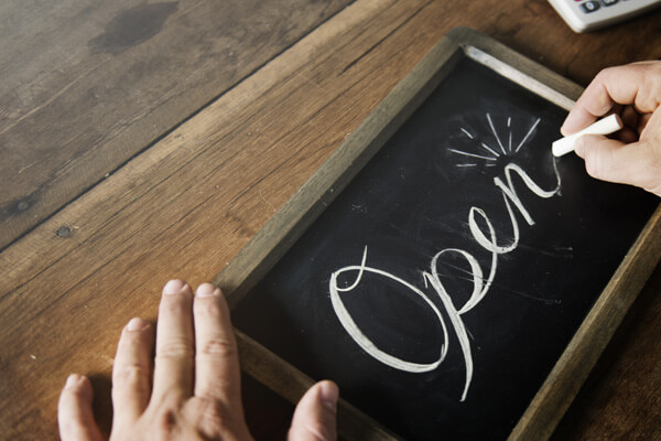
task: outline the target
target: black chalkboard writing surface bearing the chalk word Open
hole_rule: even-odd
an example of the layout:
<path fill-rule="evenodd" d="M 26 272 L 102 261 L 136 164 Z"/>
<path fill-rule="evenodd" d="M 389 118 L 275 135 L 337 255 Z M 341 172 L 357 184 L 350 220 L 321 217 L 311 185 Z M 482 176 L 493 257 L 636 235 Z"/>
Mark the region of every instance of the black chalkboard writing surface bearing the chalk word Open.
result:
<path fill-rule="evenodd" d="M 456 47 L 355 176 L 336 172 L 333 201 L 264 258 L 232 321 L 394 437 L 502 440 L 632 247 L 658 259 L 640 236 L 659 201 L 554 158 L 570 101 Z"/>

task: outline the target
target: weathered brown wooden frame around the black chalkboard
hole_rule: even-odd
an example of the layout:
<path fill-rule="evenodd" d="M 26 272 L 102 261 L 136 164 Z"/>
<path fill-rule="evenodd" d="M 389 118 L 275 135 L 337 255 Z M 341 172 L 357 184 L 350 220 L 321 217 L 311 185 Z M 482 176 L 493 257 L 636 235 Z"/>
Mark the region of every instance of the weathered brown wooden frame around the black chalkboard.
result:
<path fill-rule="evenodd" d="M 324 208 L 370 161 L 463 57 L 469 57 L 533 94 L 570 109 L 582 88 L 474 30 L 458 28 L 376 107 L 332 157 L 218 275 L 230 308 L 284 256 Z M 661 207 L 613 275 L 578 331 L 520 418 L 509 439 L 548 439 L 610 341 L 661 257 Z M 236 330 L 242 369 L 292 404 L 314 383 L 278 355 Z M 347 439 L 397 439 L 345 400 L 339 432 Z"/>

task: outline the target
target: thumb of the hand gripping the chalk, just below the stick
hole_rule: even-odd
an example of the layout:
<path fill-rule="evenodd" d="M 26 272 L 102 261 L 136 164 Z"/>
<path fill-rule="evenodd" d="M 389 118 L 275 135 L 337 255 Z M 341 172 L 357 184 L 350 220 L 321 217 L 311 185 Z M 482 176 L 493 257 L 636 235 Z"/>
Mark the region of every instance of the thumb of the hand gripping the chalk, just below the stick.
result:
<path fill-rule="evenodd" d="M 625 144 L 598 135 L 586 135 L 576 141 L 576 154 L 585 160 L 590 176 L 604 181 L 640 186 L 654 192 L 661 180 L 658 161 L 646 142 Z"/>

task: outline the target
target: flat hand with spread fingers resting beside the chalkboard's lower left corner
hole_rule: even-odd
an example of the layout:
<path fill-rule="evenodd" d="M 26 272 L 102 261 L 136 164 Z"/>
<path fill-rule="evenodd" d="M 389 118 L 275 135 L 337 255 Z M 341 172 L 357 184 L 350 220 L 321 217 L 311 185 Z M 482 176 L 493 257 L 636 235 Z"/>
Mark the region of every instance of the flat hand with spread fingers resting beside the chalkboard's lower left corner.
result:
<path fill-rule="evenodd" d="M 163 289 L 155 341 L 149 322 L 123 329 L 112 367 L 111 440 L 248 440 L 237 344 L 220 291 L 202 284 L 193 295 L 182 281 Z M 153 372 L 153 377 L 152 377 Z M 153 386 L 152 386 L 153 379 Z M 336 438 L 338 390 L 313 386 L 299 402 L 290 439 Z M 72 375 L 59 397 L 63 441 L 101 440 L 86 377 Z"/>

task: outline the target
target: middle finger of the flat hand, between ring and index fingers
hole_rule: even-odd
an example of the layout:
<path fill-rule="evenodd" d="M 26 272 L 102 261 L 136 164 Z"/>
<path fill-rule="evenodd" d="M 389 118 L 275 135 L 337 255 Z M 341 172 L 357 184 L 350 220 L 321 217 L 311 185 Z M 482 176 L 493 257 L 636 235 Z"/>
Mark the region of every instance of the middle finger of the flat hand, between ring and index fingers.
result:
<path fill-rule="evenodd" d="M 163 288 L 159 306 L 152 400 L 193 394 L 194 354 L 193 291 L 187 283 L 171 280 Z"/>

